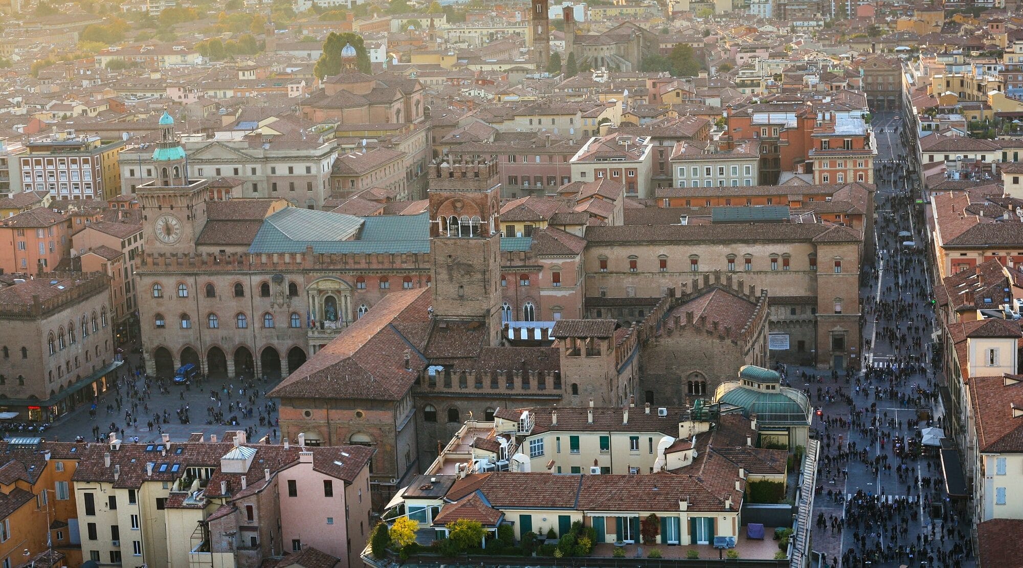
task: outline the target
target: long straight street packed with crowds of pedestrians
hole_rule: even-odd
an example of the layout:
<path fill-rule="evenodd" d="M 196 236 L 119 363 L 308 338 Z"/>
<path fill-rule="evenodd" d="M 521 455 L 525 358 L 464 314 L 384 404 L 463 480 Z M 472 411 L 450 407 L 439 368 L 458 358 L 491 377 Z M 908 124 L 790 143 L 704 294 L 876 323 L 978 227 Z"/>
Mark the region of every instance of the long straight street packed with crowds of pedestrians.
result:
<path fill-rule="evenodd" d="M 944 494 L 936 448 L 940 375 L 931 363 L 935 314 L 917 195 L 895 113 L 878 113 L 876 257 L 861 268 L 863 357 L 851 378 L 818 380 L 824 450 L 811 548 L 826 566 L 972 566 L 966 504 Z"/>

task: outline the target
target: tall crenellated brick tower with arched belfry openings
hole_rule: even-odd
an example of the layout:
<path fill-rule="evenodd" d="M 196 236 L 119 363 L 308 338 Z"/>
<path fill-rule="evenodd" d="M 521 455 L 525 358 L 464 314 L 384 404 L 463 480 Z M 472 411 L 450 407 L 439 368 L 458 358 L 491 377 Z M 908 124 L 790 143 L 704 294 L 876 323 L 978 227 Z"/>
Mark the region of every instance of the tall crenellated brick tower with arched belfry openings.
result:
<path fill-rule="evenodd" d="M 501 344 L 500 181 L 496 158 L 430 166 L 434 317 L 480 321 Z"/>

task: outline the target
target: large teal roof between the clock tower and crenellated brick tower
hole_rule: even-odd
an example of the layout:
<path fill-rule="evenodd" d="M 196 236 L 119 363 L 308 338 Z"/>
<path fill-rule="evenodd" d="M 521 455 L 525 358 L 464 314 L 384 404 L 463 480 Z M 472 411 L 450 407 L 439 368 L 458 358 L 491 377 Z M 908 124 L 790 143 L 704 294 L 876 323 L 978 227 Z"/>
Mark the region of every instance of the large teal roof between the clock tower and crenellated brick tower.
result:
<path fill-rule="evenodd" d="M 290 212 L 286 215 L 281 215 Z M 280 216 L 280 217 L 278 217 Z M 305 224 L 323 227 L 306 227 Z M 350 233 L 353 223 L 361 230 L 351 241 L 339 241 Z M 400 254 L 430 252 L 430 218 L 419 215 L 374 215 L 354 217 L 309 209 L 287 208 L 263 222 L 250 253 L 304 253 L 307 246 L 314 253 Z"/>

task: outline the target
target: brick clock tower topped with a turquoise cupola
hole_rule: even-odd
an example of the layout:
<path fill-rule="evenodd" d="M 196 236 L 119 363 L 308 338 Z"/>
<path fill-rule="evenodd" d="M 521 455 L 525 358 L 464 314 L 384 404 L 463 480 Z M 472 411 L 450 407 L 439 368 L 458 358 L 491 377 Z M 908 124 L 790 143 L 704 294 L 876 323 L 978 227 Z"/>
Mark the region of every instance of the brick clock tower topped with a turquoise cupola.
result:
<path fill-rule="evenodd" d="M 191 253 L 206 225 L 207 181 L 188 178 L 188 159 L 167 112 L 160 128 L 161 140 L 152 152 L 157 179 L 135 188 L 142 206 L 145 251 Z"/>

